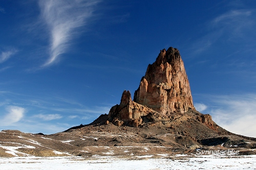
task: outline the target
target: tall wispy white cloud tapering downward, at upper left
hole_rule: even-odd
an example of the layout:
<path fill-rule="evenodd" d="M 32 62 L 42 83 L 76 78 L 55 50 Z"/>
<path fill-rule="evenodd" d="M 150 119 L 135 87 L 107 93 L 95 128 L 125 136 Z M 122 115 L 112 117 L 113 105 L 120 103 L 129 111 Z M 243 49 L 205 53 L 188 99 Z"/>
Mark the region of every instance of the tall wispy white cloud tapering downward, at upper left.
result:
<path fill-rule="evenodd" d="M 71 40 L 78 34 L 77 28 L 87 24 L 93 16 L 97 0 L 41 0 L 41 16 L 44 18 L 51 36 L 50 58 L 42 66 L 58 61 L 59 55 L 65 53 Z"/>

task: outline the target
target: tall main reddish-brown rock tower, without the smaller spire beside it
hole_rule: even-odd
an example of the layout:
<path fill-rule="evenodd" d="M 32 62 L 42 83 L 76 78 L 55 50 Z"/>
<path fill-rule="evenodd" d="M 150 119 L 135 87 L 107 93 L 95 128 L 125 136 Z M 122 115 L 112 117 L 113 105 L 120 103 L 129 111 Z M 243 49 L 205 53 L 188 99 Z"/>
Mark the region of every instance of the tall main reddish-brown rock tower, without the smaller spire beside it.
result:
<path fill-rule="evenodd" d="M 183 61 L 177 48 L 161 50 L 156 61 L 148 65 L 134 102 L 159 113 L 171 115 L 195 109 Z"/>

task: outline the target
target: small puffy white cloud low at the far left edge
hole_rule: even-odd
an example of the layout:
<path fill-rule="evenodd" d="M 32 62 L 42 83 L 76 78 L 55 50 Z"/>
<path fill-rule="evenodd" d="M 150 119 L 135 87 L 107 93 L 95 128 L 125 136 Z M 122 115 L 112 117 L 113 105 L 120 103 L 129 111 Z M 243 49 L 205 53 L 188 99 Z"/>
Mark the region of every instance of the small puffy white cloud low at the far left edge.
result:
<path fill-rule="evenodd" d="M 17 106 L 8 106 L 6 108 L 8 113 L 6 113 L 0 120 L 2 126 L 10 126 L 24 117 L 26 111 L 25 108 Z"/>

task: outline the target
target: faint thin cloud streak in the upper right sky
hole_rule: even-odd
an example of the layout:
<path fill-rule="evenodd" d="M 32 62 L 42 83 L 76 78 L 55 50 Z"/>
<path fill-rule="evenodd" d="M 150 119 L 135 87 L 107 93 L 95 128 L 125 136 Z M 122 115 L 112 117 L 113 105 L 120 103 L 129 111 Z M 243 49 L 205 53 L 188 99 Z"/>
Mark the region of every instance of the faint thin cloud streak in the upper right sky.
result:
<path fill-rule="evenodd" d="M 252 34 L 255 35 L 255 25 L 255 12 L 251 9 L 226 11 L 205 23 L 203 27 L 205 34 L 193 42 L 192 51 L 194 55 L 198 55 L 215 45 L 220 39 L 248 41 Z"/>

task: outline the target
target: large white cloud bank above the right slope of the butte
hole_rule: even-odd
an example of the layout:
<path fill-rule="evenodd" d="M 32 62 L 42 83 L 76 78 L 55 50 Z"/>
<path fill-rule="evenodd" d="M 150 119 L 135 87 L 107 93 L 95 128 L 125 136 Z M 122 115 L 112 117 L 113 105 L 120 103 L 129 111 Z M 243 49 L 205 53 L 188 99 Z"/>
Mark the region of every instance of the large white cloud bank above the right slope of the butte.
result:
<path fill-rule="evenodd" d="M 224 129 L 256 137 L 256 94 L 209 96 L 212 106 L 206 110 Z"/>

